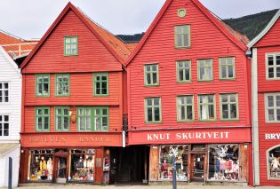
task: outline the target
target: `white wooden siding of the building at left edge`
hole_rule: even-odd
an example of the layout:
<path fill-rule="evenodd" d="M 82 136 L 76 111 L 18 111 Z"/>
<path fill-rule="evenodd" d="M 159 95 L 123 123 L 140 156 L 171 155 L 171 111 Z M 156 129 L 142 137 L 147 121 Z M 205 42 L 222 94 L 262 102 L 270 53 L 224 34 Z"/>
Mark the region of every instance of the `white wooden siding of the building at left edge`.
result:
<path fill-rule="evenodd" d="M 21 75 L 20 69 L 16 67 L 9 55 L 0 50 L 0 82 L 9 83 L 9 102 L 0 103 L 0 114 L 8 114 L 10 121 L 9 136 L 0 137 L 0 143 L 20 140 Z"/>

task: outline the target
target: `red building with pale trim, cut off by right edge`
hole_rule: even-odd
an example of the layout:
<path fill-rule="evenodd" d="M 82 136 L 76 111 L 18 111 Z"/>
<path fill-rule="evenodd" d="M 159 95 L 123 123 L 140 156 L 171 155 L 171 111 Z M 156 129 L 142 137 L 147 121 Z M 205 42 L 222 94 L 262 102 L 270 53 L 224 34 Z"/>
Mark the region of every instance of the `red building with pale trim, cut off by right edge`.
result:
<path fill-rule="evenodd" d="M 252 50 L 254 185 L 280 185 L 280 10 Z"/>

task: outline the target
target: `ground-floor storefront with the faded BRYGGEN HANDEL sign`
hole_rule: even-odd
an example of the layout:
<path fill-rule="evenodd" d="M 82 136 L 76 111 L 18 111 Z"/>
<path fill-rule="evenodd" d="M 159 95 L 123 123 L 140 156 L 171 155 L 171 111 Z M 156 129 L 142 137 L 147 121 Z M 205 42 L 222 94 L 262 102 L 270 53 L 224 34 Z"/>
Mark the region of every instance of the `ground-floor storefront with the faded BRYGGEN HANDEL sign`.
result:
<path fill-rule="evenodd" d="M 121 145 L 121 135 L 28 134 L 21 137 L 20 182 L 106 184 L 110 146 Z"/>

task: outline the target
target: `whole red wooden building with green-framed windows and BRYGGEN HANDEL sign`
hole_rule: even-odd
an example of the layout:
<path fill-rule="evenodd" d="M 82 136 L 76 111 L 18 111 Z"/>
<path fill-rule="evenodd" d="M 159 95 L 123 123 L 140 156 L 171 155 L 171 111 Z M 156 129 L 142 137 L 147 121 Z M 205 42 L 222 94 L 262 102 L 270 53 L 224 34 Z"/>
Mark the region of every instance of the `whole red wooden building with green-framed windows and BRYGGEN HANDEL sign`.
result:
<path fill-rule="evenodd" d="M 21 65 L 20 182 L 108 182 L 126 44 L 68 4 Z M 115 162 L 115 161 L 114 161 Z"/>

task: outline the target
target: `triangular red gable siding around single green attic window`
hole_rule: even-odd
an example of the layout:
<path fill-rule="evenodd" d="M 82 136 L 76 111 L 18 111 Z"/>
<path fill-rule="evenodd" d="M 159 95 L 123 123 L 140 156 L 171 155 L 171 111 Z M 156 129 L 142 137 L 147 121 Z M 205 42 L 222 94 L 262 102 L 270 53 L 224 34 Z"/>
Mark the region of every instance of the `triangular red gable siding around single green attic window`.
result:
<path fill-rule="evenodd" d="M 64 36 L 78 36 L 78 55 L 64 56 Z M 23 73 L 97 72 L 122 70 L 121 63 L 92 34 L 84 23 L 69 10 Z"/>

